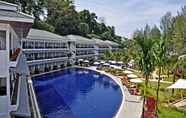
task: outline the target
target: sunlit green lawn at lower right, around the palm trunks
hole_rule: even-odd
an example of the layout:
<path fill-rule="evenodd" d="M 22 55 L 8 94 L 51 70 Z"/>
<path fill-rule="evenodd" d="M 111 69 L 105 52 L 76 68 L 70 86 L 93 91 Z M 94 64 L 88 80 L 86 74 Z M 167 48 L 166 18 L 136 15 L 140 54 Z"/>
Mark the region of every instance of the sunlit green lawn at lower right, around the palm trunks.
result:
<path fill-rule="evenodd" d="M 174 96 L 171 95 L 171 90 L 166 89 L 170 84 L 161 83 L 159 92 L 159 118 L 186 118 L 186 111 L 181 109 L 176 109 L 168 107 L 167 104 L 175 99 L 180 98 L 181 92 L 175 90 Z M 143 90 L 144 83 L 139 85 L 139 88 Z M 147 96 L 154 96 L 156 98 L 156 88 L 157 82 L 149 82 L 149 88 L 147 90 Z M 184 96 L 186 96 L 186 91 L 183 91 Z"/>

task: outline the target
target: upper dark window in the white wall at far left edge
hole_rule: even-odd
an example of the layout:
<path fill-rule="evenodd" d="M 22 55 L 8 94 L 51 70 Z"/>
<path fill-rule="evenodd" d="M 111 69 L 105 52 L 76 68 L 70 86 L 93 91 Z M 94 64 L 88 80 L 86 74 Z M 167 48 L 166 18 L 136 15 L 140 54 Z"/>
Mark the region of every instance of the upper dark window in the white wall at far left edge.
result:
<path fill-rule="evenodd" d="M 6 31 L 0 31 L 0 50 L 6 50 Z"/>

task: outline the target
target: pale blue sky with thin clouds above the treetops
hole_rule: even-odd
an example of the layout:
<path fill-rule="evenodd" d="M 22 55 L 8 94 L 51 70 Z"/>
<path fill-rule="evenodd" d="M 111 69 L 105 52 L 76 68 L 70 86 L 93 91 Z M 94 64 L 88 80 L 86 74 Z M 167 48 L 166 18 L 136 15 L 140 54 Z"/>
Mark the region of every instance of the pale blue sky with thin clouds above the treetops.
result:
<path fill-rule="evenodd" d="M 78 11 L 88 9 L 115 26 L 116 34 L 132 37 L 136 29 L 146 24 L 158 25 L 168 11 L 173 16 L 186 5 L 186 0 L 75 0 Z"/>

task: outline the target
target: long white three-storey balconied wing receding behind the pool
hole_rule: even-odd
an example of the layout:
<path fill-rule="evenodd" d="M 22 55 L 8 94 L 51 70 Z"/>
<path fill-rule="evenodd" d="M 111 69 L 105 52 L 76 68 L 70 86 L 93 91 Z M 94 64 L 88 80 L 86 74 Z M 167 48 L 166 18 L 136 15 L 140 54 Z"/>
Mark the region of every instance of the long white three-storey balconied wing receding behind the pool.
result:
<path fill-rule="evenodd" d="M 30 29 L 21 40 L 30 74 L 40 74 L 78 63 L 93 62 L 106 51 L 116 51 L 118 44 L 100 39 L 88 39 L 78 35 L 60 36 L 48 31 Z"/>

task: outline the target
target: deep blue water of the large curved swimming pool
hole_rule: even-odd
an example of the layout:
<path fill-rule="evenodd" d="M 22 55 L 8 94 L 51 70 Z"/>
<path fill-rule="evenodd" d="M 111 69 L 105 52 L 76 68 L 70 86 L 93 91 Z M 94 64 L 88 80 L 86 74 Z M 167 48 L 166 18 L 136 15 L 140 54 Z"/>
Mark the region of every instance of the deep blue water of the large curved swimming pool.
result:
<path fill-rule="evenodd" d="M 33 85 L 43 118 L 112 118 L 122 102 L 111 78 L 88 69 L 37 76 Z"/>

